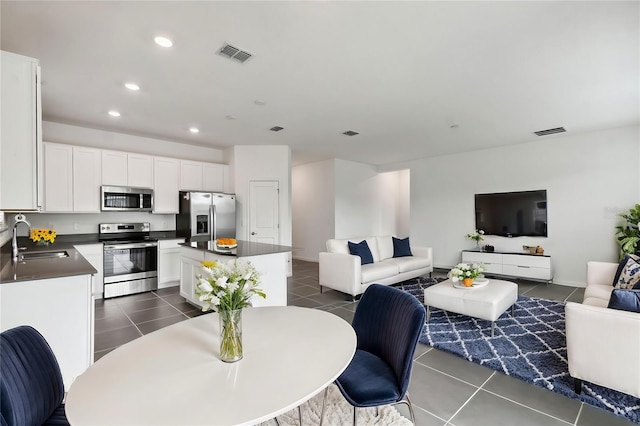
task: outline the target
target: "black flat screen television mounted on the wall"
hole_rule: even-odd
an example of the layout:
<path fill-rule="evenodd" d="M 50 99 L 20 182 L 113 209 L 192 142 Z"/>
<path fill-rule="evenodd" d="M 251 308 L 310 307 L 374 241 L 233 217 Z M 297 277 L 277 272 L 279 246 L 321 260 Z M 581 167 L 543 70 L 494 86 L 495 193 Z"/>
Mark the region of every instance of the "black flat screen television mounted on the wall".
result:
<path fill-rule="evenodd" d="M 547 236 L 547 191 L 476 194 L 476 229 L 502 237 Z"/>

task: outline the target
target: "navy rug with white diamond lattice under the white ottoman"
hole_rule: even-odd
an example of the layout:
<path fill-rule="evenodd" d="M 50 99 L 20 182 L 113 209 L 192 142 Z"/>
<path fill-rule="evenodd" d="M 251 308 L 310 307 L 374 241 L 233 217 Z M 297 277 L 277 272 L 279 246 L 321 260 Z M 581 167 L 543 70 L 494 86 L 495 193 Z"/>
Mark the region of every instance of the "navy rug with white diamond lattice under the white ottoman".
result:
<path fill-rule="evenodd" d="M 424 303 L 422 290 L 442 280 L 421 277 L 395 287 Z M 493 338 L 489 321 L 432 309 L 420 342 L 640 424 L 638 398 L 589 382 L 580 395 L 573 391 L 562 303 L 520 296 L 514 317 L 496 321 Z"/>

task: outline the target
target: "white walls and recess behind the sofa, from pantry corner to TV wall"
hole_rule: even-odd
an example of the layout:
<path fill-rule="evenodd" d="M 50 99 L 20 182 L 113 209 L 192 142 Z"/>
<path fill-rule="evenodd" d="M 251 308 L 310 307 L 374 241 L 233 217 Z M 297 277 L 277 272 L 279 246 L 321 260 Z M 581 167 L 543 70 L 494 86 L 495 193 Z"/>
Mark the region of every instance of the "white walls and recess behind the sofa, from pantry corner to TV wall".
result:
<path fill-rule="evenodd" d="M 329 238 L 409 235 L 408 170 L 327 160 L 293 168 L 296 259 L 318 261 Z"/>

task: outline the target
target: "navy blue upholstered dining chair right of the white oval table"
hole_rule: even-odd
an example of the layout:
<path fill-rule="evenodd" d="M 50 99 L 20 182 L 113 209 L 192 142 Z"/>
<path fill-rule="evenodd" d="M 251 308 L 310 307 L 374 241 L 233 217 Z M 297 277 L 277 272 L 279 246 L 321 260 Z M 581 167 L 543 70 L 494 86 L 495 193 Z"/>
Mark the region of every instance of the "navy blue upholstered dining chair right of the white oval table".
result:
<path fill-rule="evenodd" d="M 411 421 L 416 423 L 407 390 L 425 319 L 424 306 L 412 295 L 380 284 L 367 287 L 353 316 L 356 353 L 336 379 L 338 389 L 353 405 L 354 425 L 358 407 L 399 403 L 409 407 Z M 323 418 L 324 402 L 321 424 Z"/>

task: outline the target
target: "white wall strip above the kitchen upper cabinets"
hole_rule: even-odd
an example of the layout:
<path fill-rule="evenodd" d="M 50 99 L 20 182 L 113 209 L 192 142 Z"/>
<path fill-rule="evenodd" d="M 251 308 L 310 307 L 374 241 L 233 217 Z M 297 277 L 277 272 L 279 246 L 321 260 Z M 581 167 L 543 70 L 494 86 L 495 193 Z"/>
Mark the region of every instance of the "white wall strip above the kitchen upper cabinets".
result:
<path fill-rule="evenodd" d="M 90 129 L 88 127 L 71 126 L 69 124 L 60 124 L 51 121 L 44 121 L 42 123 L 42 140 L 46 142 L 58 142 L 70 145 L 173 157 L 183 160 L 224 163 L 224 152 L 220 149 L 186 145 L 163 139 L 133 136 L 124 133 Z"/>

